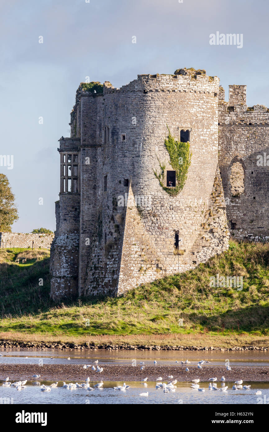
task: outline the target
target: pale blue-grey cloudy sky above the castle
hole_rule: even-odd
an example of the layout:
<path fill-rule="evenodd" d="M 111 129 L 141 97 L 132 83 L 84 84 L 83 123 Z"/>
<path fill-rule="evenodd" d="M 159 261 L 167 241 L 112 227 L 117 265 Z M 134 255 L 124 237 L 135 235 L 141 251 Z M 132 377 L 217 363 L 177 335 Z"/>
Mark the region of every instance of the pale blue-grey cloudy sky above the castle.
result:
<path fill-rule="evenodd" d="M 268 16 L 268 0 L 0 0 L 0 155 L 13 156 L 0 172 L 16 197 L 13 232 L 55 229 L 58 140 L 85 77 L 121 87 L 194 67 L 220 78 L 225 100 L 243 84 L 247 105 L 268 107 Z M 243 35 L 242 48 L 210 44 L 217 32 Z"/>

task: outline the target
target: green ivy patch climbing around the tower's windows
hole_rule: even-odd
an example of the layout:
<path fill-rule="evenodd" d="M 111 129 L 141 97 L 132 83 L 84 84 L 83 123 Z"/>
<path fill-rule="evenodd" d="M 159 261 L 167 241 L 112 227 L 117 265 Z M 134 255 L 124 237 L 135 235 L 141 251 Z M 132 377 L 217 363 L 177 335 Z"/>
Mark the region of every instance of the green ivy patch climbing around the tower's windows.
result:
<path fill-rule="evenodd" d="M 166 125 L 167 126 L 167 125 Z M 155 177 L 158 178 L 158 181 L 161 187 L 167 192 L 169 195 L 175 197 L 182 191 L 184 184 L 187 180 L 188 169 L 190 167 L 190 159 L 192 153 L 190 152 L 190 143 L 181 143 L 181 141 L 175 140 L 172 137 L 170 130 L 167 126 L 169 135 L 168 138 L 165 139 L 165 147 L 169 153 L 170 157 L 170 165 L 176 172 L 176 186 L 175 187 L 167 187 L 164 184 L 165 181 L 165 162 L 161 162 L 157 156 L 161 171 L 159 174 L 157 170 L 153 170 Z"/>

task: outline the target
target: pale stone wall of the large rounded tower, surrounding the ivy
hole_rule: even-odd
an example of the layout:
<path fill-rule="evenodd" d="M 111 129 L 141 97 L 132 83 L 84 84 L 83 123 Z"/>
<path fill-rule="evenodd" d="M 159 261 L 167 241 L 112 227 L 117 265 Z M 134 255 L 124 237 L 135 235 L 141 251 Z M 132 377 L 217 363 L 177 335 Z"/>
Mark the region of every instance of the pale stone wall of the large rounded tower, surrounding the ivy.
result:
<path fill-rule="evenodd" d="M 85 133 L 94 128 L 88 141 L 94 136 L 101 146 L 94 156 L 96 213 L 83 294 L 117 295 L 227 249 L 225 202 L 218 205 L 212 197 L 219 178 L 218 84 L 209 76 L 140 75 L 121 89 L 104 86 L 102 97 L 95 98 L 97 114 L 85 122 Z M 191 131 L 192 161 L 177 197 L 161 188 L 153 172 L 159 169 L 158 158 L 172 169 L 164 145 L 166 124 L 175 137 L 181 128 Z M 109 127 L 109 142 L 104 127 Z M 127 204 L 119 205 L 125 194 Z M 150 205 L 132 206 L 132 196 L 150 198 Z M 213 207 L 221 215 L 205 235 Z M 174 253 L 176 233 L 182 254 Z"/>

